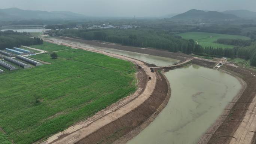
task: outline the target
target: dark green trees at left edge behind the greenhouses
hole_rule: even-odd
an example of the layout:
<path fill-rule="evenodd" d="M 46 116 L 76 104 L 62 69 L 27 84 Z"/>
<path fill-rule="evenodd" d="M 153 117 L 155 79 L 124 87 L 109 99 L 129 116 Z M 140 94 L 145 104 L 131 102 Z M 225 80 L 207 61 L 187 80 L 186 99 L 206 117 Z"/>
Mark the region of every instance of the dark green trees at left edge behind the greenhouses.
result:
<path fill-rule="evenodd" d="M 21 45 L 40 45 L 43 44 L 43 40 L 34 37 L 34 39 L 28 37 L 27 33 L 18 33 L 14 31 L 0 31 L 0 49 L 13 48 Z"/>

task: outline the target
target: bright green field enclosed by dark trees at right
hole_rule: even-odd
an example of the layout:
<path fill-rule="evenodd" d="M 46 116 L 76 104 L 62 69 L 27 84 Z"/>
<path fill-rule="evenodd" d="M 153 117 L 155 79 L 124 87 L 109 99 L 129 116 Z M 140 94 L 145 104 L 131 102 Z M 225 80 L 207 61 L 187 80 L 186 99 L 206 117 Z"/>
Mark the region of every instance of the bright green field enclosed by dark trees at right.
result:
<path fill-rule="evenodd" d="M 249 37 L 237 36 L 237 35 L 228 35 L 228 34 L 214 34 L 214 33 L 201 33 L 201 32 L 189 32 L 177 34 L 183 39 L 193 39 L 198 42 L 199 45 L 203 47 L 213 47 L 213 48 L 234 48 L 232 45 L 223 45 L 219 43 L 214 43 L 217 39 L 244 39 L 250 40 Z"/>

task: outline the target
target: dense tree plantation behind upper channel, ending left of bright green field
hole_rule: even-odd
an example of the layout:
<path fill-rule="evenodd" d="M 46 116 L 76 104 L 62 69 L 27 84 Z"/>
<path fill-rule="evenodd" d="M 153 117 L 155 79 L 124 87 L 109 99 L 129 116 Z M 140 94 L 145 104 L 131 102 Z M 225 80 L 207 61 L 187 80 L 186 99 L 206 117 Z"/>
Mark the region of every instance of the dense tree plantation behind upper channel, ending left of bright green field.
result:
<path fill-rule="evenodd" d="M 59 32 L 58 36 L 73 36 L 85 40 L 100 40 L 126 46 L 150 47 L 186 54 L 192 52 L 195 43 L 193 40 L 189 41 L 171 36 L 166 31 L 150 29 L 65 30 Z"/>

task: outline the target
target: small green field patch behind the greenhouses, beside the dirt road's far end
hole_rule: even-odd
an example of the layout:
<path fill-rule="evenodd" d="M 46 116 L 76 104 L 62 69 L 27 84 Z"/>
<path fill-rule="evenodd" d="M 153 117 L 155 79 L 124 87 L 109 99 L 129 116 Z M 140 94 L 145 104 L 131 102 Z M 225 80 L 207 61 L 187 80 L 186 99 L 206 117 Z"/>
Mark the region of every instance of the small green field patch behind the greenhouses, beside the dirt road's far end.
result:
<path fill-rule="evenodd" d="M 42 50 L 45 50 L 45 51 L 48 51 L 48 52 L 70 49 L 70 47 L 67 47 L 67 46 L 55 45 L 55 44 L 48 43 L 48 42 L 43 42 L 43 45 L 33 45 L 33 46 L 29 46 L 29 47 L 36 48 L 36 49 L 42 49 Z"/>

